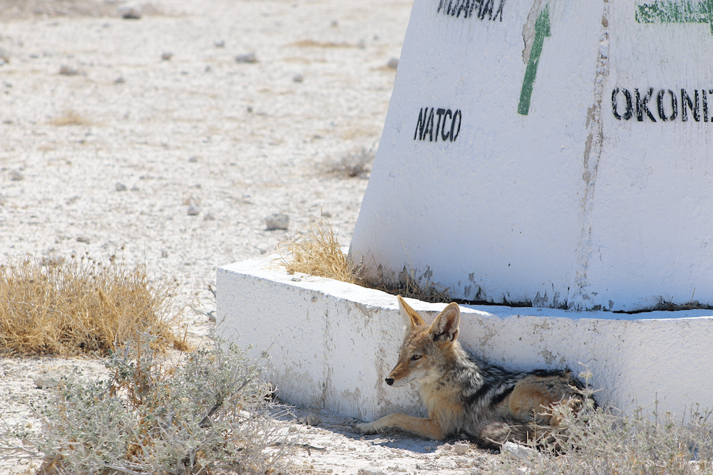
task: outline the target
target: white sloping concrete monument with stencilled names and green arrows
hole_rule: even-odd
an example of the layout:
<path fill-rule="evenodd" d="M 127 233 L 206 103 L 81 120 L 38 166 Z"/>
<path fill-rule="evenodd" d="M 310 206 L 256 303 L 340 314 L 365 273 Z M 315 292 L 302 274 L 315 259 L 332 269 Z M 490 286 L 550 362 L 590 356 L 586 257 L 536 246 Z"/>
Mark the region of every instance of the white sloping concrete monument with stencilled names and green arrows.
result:
<path fill-rule="evenodd" d="M 415 0 L 350 254 L 453 297 L 713 305 L 713 1 Z"/>

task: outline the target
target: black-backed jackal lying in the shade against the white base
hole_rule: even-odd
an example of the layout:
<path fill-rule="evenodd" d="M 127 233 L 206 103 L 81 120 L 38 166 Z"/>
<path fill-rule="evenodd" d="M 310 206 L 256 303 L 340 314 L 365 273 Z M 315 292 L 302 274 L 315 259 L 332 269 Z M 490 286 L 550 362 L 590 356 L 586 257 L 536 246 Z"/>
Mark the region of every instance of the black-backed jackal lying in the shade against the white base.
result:
<path fill-rule="evenodd" d="M 456 340 L 461 318 L 457 303 L 450 303 L 431 325 L 401 296 L 399 305 L 410 330 L 386 384 L 418 382 L 429 417 L 389 414 L 357 424 L 360 432 L 401 429 L 436 440 L 464 433 L 481 447 L 498 449 L 508 441 L 551 440 L 560 429 L 553 408 L 567 404 L 578 412 L 583 407 L 585 386 L 570 370 L 511 372 L 463 350 Z"/>

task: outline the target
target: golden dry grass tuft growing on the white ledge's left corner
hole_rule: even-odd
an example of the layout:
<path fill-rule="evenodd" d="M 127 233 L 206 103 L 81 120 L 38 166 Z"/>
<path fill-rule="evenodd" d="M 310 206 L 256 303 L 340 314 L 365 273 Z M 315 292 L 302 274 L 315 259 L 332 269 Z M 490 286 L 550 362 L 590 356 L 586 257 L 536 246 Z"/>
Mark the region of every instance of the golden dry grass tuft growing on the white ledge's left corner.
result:
<path fill-rule="evenodd" d="M 284 248 L 287 248 L 287 256 L 282 254 Z M 279 250 L 289 273 L 309 273 L 356 285 L 363 283 L 359 268 L 342 252 L 332 226 L 324 221 L 310 224 L 308 233 L 280 244 Z"/>

